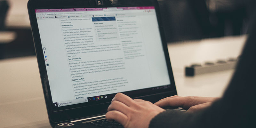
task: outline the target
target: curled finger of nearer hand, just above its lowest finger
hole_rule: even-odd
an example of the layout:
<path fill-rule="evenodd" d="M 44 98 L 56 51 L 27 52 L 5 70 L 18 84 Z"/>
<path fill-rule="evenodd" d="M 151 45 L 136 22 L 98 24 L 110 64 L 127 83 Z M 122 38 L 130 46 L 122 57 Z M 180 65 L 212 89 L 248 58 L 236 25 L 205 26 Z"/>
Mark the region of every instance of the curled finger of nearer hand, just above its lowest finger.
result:
<path fill-rule="evenodd" d="M 127 113 L 130 112 L 131 108 L 129 108 L 127 105 L 125 105 L 124 103 L 120 102 L 120 101 L 113 101 L 109 106 L 108 106 L 108 111 L 112 111 L 112 110 L 117 110 L 119 112 L 124 113 L 125 115 L 127 115 Z"/>

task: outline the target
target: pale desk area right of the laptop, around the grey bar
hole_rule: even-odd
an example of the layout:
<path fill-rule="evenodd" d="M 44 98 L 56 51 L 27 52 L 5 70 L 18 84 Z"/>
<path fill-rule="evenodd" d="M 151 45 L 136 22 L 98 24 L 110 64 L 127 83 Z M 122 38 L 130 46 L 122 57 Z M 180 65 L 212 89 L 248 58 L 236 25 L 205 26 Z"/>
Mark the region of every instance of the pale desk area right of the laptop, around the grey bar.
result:
<path fill-rule="evenodd" d="M 239 56 L 246 40 L 247 35 L 243 35 L 168 44 L 178 95 L 221 97 L 234 69 L 187 77 L 184 67 L 194 62 Z"/>

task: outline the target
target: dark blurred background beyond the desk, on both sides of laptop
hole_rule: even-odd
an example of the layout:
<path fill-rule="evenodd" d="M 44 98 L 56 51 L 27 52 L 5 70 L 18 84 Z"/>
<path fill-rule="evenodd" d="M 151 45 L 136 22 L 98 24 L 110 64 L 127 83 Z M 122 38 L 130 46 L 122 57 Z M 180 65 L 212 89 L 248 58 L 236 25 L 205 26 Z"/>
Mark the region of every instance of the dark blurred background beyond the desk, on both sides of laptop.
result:
<path fill-rule="evenodd" d="M 255 7 L 255 0 L 158 1 L 168 43 L 247 34 Z M 27 2 L 0 0 L 0 59 L 35 55 Z"/>

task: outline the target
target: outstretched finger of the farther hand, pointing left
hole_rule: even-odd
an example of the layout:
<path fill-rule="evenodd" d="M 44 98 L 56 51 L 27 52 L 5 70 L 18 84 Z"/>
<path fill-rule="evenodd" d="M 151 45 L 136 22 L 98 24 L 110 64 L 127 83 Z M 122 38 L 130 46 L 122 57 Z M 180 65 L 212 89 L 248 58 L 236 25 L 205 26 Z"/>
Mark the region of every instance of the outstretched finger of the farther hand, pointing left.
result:
<path fill-rule="evenodd" d="M 186 103 L 186 99 L 184 97 L 167 97 L 164 100 L 156 102 L 155 105 L 161 108 L 166 106 L 176 108 L 183 107 L 184 103 Z"/>

